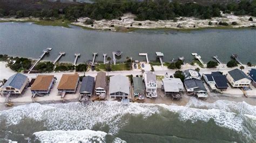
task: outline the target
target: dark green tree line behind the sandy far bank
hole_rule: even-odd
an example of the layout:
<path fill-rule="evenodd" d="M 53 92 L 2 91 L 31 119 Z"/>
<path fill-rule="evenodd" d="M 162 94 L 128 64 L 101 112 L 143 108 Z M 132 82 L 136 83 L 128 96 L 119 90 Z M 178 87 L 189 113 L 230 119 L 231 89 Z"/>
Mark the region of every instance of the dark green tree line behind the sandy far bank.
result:
<path fill-rule="evenodd" d="M 220 11 L 224 13 L 234 12 L 234 15 L 256 16 L 256 0 L 252 2 L 241 1 L 240 3 L 230 3 L 227 5 L 213 4 L 210 6 L 197 3 L 172 3 L 168 0 L 144 2 L 119 2 L 118 0 L 111 0 L 98 1 L 97 3 L 70 4 L 64 9 L 7 10 L 2 8 L 0 9 L 0 17 L 16 16 L 16 18 L 21 18 L 32 16 L 38 18 L 65 18 L 74 22 L 80 17 L 89 17 L 95 20 L 117 19 L 123 16 L 123 13 L 131 12 L 137 16 L 135 20 L 157 21 L 176 20 L 180 16 L 211 19 L 211 17 L 220 17 Z"/>

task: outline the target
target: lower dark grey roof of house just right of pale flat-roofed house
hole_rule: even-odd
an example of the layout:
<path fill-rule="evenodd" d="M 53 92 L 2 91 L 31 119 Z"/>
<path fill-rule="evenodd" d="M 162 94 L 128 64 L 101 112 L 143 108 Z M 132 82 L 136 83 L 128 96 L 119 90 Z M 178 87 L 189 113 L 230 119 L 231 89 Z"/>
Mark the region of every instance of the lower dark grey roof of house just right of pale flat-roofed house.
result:
<path fill-rule="evenodd" d="M 186 85 L 186 88 L 188 89 L 193 88 L 194 91 L 200 91 L 200 90 L 207 91 L 204 83 L 201 80 L 197 80 L 195 78 L 185 80 L 184 84 Z"/>

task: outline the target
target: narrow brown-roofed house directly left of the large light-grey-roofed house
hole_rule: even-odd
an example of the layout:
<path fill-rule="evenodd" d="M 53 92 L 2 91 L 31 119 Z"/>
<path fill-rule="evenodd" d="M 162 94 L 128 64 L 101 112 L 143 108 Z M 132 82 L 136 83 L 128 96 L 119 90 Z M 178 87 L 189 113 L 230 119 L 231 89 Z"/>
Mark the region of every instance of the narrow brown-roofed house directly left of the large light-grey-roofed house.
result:
<path fill-rule="evenodd" d="M 106 73 L 102 71 L 100 71 L 96 76 L 95 93 L 96 95 L 106 94 Z"/>

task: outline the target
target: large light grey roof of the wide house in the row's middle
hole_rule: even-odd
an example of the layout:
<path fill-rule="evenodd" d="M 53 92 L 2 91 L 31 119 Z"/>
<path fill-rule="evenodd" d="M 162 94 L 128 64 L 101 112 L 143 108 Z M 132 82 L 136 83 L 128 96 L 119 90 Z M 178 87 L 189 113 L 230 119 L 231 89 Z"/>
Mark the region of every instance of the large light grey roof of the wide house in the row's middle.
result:
<path fill-rule="evenodd" d="M 111 76 L 109 82 L 109 94 L 114 92 L 130 94 L 129 78 L 123 75 Z"/>

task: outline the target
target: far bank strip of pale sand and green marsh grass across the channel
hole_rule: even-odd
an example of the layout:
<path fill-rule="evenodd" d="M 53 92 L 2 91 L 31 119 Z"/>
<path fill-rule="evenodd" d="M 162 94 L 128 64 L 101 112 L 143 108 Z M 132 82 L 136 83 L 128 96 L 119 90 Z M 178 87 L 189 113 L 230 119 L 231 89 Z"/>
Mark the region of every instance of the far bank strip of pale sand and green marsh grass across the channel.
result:
<path fill-rule="evenodd" d="M 85 30 L 98 30 L 98 31 L 112 31 L 112 32 L 132 32 L 136 30 L 174 30 L 174 31 L 197 31 L 207 29 L 220 29 L 220 30 L 243 30 L 250 29 L 256 25 L 256 22 L 248 21 L 248 18 L 252 16 L 234 16 L 233 14 L 223 14 L 221 17 L 213 17 L 212 19 L 198 19 L 194 17 L 179 17 L 176 22 L 173 20 L 158 20 L 150 21 L 136 21 L 136 16 L 131 13 L 125 13 L 122 20 L 95 20 L 93 27 L 91 25 L 84 24 L 85 20 L 90 18 L 79 18 L 78 22 L 69 22 L 67 20 L 39 20 L 39 18 L 26 17 L 26 18 L 0 18 L 0 23 L 6 22 L 21 22 L 21 23 L 33 23 L 41 26 L 62 26 L 71 28 L 77 26 Z M 256 17 L 252 17 L 256 19 Z M 208 25 L 208 22 L 212 22 L 212 25 Z M 217 23 L 227 22 L 228 26 L 221 26 Z M 238 25 L 232 25 L 232 22 L 237 22 Z M 142 24 L 141 26 L 139 24 Z M 112 27 L 113 25 L 113 27 Z M 132 25 L 132 26 L 131 26 Z M 180 25 L 180 27 L 178 27 Z M 194 27 L 196 26 L 196 27 Z"/>

